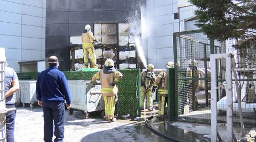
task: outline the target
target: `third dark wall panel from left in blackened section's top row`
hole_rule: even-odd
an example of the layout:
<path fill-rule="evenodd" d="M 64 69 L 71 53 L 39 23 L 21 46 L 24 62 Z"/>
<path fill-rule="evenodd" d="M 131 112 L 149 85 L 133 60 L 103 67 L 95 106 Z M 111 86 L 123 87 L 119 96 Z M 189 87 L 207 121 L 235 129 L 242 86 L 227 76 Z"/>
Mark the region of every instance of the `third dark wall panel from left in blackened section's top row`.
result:
<path fill-rule="evenodd" d="M 93 10 L 95 11 L 106 11 L 116 10 L 117 0 L 94 0 Z"/>

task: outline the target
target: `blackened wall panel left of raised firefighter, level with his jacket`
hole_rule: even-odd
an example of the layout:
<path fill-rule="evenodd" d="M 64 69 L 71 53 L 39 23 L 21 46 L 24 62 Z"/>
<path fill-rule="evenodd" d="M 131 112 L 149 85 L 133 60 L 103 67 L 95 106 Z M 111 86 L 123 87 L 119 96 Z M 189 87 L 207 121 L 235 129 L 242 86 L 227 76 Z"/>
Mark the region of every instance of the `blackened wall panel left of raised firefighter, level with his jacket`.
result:
<path fill-rule="evenodd" d="M 68 48 L 68 36 L 46 36 L 45 45 L 46 49 L 61 49 Z"/>

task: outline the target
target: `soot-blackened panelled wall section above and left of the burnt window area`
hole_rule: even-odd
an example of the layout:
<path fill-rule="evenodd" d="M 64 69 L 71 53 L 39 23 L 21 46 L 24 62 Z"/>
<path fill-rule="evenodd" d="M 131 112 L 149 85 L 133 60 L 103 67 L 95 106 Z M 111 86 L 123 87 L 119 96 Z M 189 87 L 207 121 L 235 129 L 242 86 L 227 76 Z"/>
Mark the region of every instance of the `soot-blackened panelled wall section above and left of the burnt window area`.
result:
<path fill-rule="evenodd" d="M 69 70 L 71 36 L 81 36 L 84 26 L 93 23 L 140 21 L 140 1 L 145 0 L 47 0 L 46 58 L 55 55 L 61 70 Z"/>

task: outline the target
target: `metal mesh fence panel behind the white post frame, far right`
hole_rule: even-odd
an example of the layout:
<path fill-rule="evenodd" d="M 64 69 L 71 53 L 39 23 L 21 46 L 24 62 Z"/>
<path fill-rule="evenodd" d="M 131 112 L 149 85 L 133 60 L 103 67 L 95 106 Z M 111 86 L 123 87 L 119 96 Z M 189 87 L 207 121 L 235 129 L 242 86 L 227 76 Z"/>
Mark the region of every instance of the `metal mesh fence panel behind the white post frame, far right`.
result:
<path fill-rule="evenodd" d="M 238 92 L 241 93 L 242 119 L 244 122 L 245 133 L 249 134 L 249 138 L 256 136 L 254 131 L 256 126 L 256 38 L 246 38 L 238 40 L 227 40 L 222 43 L 222 51 L 229 52 L 234 55 L 235 72 L 238 77 L 238 87 L 235 85 L 234 73 L 232 76 L 232 93 L 233 93 L 233 125 L 241 127 L 241 119 L 238 109 Z M 226 84 L 225 84 L 225 64 L 224 61 L 218 61 L 218 121 L 225 122 L 226 112 Z M 238 92 L 237 89 L 238 88 Z M 240 130 L 240 129 L 239 129 Z M 238 132 L 242 136 L 242 132 Z M 247 139 L 248 140 L 248 139 Z"/>

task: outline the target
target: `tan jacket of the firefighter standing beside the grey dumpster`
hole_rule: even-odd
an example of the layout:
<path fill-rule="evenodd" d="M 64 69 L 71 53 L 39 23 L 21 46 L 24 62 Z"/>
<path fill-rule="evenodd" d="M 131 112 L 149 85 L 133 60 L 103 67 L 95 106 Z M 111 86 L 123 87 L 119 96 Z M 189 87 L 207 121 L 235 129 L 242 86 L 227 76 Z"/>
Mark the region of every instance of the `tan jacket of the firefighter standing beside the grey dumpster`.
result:
<path fill-rule="evenodd" d="M 98 73 L 93 75 L 92 81 L 95 82 L 97 79 L 100 79 L 101 82 L 101 93 L 103 96 L 111 96 L 118 93 L 118 88 L 116 83 L 123 77 L 122 73 L 117 70 L 110 71 L 107 68 L 103 68 Z M 114 83 L 114 86 L 111 84 Z"/>

